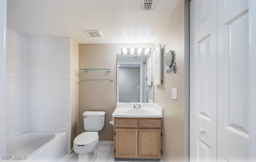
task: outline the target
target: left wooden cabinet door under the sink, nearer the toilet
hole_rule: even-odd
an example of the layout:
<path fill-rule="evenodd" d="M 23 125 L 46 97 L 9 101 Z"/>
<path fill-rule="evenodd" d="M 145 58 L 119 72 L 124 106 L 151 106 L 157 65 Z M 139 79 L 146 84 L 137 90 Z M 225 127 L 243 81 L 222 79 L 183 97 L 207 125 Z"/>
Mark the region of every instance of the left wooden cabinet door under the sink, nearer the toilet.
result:
<path fill-rule="evenodd" d="M 138 129 L 116 128 L 115 158 L 138 157 Z"/>

